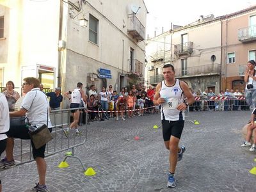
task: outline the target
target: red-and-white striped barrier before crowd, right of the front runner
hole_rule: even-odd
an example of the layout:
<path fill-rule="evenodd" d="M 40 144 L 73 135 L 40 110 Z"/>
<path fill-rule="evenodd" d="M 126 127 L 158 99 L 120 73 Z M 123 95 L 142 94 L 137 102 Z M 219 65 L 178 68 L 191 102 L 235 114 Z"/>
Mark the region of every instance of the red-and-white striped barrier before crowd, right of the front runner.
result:
<path fill-rule="evenodd" d="M 190 111 L 237 111 L 250 110 L 244 95 L 236 97 L 227 96 L 196 96 Z"/>

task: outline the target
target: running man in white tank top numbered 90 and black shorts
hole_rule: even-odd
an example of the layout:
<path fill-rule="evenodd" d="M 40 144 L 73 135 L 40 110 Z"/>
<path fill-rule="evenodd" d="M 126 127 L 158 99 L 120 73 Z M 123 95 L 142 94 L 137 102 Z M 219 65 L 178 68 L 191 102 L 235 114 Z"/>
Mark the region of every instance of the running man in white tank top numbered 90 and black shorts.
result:
<path fill-rule="evenodd" d="M 173 65 L 164 65 L 163 76 L 164 81 L 157 84 L 153 101 L 155 105 L 161 104 L 164 145 L 170 150 L 167 187 L 175 188 L 174 173 L 177 161 L 182 159 L 182 154 L 186 150 L 184 146 L 179 147 L 180 136 L 184 127 L 184 110 L 193 104 L 195 99 L 188 85 L 184 81 L 175 79 Z"/>

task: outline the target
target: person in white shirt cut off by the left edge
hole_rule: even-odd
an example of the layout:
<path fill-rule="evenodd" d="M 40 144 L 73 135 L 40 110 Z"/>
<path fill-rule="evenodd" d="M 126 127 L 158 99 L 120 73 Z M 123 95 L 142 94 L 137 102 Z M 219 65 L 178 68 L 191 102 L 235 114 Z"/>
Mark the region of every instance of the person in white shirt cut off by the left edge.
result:
<path fill-rule="evenodd" d="M 5 132 L 9 131 L 10 118 L 9 118 L 9 107 L 5 95 L 0 93 L 0 156 L 6 148 L 7 136 Z M 0 191 L 2 191 L 2 184 L 0 180 Z"/>

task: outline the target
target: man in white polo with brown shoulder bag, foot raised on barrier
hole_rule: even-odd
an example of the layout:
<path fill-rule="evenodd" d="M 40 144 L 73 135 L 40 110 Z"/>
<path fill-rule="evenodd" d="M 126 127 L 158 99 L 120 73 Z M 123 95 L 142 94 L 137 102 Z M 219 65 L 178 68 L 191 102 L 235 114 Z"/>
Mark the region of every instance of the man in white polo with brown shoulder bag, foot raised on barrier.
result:
<path fill-rule="evenodd" d="M 31 191 L 47 191 L 45 185 L 46 175 L 46 162 L 45 162 L 45 145 L 44 143 L 36 143 L 32 135 L 38 136 L 35 131 L 41 131 L 47 127 L 51 127 L 51 121 L 49 119 L 49 102 L 46 95 L 40 91 L 40 81 L 35 77 L 26 77 L 22 84 L 22 90 L 26 93 L 24 100 L 20 106 L 19 111 L 10 112 L 10 117 L 24 116 L 26 115 L 26 124 L 24 125 L 11 125 L 10 130 L 6 133 L 8 136 L 6 145 L 6 157 L 1 160 L 0 168 L 11 168 L 15 166 L 13 159 L 13 138 L 20 138 L 22 140 L 31 140 L 33 158 L 36 161 L 39 180 L 35 187 L 31 188 Z M 50 130 L 51 131 L 51 130 Z M 44 134 L 43 134 L 44 135 Z M 45 140 L 40 138 L 40 140 Z M 47 142 L 47 141 L 46 141 Z"/>

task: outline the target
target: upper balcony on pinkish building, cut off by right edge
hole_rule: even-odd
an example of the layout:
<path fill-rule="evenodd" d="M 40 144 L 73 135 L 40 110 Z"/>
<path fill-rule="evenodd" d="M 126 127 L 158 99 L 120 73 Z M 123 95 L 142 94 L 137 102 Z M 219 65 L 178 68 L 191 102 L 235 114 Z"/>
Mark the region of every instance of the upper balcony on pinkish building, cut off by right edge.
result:
<path fill-rule="evenodd" d="M 238 29 L 238 40 L 240 42 L 251 42 L 256 40 L 256 26 Z"/>

